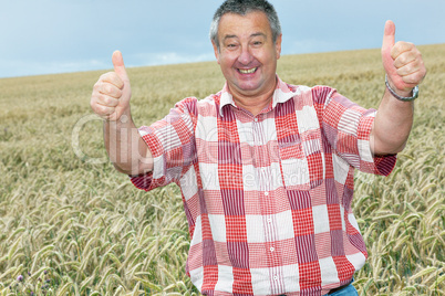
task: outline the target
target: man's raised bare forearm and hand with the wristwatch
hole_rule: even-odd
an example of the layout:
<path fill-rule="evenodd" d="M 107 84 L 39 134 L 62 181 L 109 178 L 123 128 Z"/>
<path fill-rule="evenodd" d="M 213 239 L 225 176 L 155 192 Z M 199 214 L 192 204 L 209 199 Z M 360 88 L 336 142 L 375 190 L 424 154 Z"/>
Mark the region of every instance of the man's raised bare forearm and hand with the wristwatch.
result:
<path fill-rule="evenodd" d="M 411 97 L 413 88 L 426 75 L 421 52 L 408 42 L 395 43 L 395 25 L 385 24 L 382 61 L 390 87 L 401 97 Z M 371 131 L 374 155 L 390 155 L 403 150 L 413 125 L 414 103 L 397 99 L 387 88 L 379 106 Z"/>

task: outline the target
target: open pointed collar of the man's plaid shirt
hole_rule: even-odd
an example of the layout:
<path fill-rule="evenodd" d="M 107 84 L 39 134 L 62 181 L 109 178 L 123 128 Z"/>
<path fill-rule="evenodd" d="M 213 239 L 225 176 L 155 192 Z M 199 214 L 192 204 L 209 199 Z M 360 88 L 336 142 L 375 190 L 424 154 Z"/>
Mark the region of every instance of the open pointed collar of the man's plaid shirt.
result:
<path fill-rule="evenodd" d="M 291 97 L 296 95 L 296 92 L 289 88 L 289 85 L 286 84 L 278 77 L 277 75 L 277 86 L 273 92 L 273 97 L 272 97 L 272 108 L 277 106 L 278 103 L 284 103 L 289 101 Z M 230 94 L 229 86 L 227 84 L 227 81 L 221 89 L 221 95 L 220 95 L 220 104 L 219 104 L 219 114 L 221 117 L 224 117 L 222 108 L 231 105 L 234 107 L 237 107 L 235 104 L 234 97 Z"/>

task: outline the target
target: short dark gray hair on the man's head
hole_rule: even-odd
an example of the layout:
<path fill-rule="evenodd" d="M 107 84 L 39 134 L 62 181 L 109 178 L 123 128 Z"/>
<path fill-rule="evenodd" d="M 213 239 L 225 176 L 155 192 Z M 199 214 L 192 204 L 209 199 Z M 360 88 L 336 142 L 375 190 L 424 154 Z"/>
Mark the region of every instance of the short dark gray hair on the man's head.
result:
<path fill-rule="evenodd" d="M 278 19 L 277 11 L 273 6 L 267 0 L 226 0 L 216 10 L 214 20 L 210 25 L 210 40 L 216 44 L 219 51 L 218 28 L 219 21 L 226 13 L 235 13 L 239 15 L 246 15 L 252 11 L 262 11 L 266 13 L 270 29 L 272 31 L 272 40 L 277 41 L 277 38 L 281 35 L 280 20 Z"/>

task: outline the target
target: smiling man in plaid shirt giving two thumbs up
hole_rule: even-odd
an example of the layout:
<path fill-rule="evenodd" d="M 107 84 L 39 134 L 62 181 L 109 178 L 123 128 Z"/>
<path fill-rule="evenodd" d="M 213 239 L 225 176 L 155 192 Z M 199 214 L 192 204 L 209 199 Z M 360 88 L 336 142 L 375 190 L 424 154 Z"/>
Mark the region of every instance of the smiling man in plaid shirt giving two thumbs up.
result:
<path fill-rule="evenodd" d="M 408 137 L 417 49 L 385 24 L 379 112 L 276 74 L 281 29 L 266 0 L 227 0 L 210 29 L 224 88 L 185 98 L 136 129 L 120 52 L 91 99 L 116 169 L 145 190 L 176 182 L 192 237 L 187 274 L 204 295 L 356 295 L 368 256 L 351 210 L 353 170 L 389 175 Z M 126 137 L 126 135 L 130 135 Z"/>

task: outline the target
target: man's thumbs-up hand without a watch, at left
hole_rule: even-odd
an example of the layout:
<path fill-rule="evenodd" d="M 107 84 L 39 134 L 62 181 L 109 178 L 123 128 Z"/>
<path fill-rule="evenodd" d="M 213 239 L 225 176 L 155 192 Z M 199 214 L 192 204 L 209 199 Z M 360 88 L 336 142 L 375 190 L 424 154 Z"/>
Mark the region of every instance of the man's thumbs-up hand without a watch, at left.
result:
<path fill-rule="evenodd" d="M 112 60 L 114 72 L 103 74 L 94 84 L 90 105 L 100 117 L 116 121 L 124 114 L 130 116 L 132 89 L 122 53 L 115 51 Z"/>

